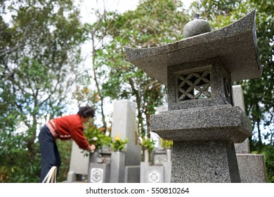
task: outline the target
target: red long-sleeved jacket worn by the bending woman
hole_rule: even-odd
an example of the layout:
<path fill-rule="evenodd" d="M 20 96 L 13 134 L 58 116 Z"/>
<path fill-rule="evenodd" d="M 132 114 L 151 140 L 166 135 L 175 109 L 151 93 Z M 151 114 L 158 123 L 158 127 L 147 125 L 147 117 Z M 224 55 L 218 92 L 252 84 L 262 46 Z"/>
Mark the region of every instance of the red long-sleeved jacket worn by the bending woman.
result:
<path fill-rule="evenodd" d="M 84 125 L 81 122 L 81 117 L 76 115 L 66 115 L 53 119 L 58 129 L 58 139 L 67 140 L 73 139 L 79 148 L 84 150 L 89 149 L 89 143 L 83 134 Z"/>

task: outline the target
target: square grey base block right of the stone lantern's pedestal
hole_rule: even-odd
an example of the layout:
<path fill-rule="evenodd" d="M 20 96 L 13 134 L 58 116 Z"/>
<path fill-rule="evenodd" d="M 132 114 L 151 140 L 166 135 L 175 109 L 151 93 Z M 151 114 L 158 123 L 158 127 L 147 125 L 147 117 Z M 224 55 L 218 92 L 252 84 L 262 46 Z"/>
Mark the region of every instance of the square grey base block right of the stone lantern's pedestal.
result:
<path fill-rule="evenodd" d="M 237 153 L 242 183 L 265 183 L 266 167 L 263 155 Z"/>

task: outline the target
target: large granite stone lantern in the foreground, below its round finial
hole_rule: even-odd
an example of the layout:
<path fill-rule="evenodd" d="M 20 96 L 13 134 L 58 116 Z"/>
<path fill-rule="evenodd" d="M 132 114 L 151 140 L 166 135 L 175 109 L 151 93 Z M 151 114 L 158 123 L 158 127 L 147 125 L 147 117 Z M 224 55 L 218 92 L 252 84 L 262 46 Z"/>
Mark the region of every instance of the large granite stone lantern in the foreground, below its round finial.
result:
<path fill-rule="evenodd" d="M 174 141 L 171 182 L 240 182 L 234 143 L 252 125 L 233 106 L 231 83 L 261 76 L 255 29 L 252 11 L 179 42 L 125 48 L 127 61 L 168 87 L 169 110 L 150 116 L 150 131 Z"/>

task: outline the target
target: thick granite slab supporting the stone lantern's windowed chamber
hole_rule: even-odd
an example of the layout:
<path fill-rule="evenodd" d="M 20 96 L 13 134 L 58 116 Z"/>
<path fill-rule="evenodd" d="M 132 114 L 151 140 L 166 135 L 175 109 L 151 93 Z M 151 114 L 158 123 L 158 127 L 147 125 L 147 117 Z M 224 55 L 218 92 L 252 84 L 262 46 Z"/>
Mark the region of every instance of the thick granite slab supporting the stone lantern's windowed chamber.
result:
<path fill-rule="evenodd" d="M 174 141 L 228 140 L 241 143 L 252 135 L 252 125 L 239 107 L 225 105 L 151 115 L 150 131 Z"/>

